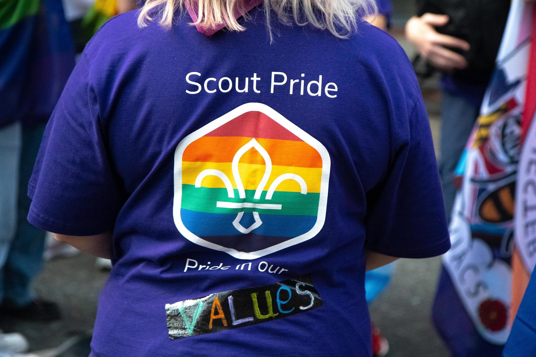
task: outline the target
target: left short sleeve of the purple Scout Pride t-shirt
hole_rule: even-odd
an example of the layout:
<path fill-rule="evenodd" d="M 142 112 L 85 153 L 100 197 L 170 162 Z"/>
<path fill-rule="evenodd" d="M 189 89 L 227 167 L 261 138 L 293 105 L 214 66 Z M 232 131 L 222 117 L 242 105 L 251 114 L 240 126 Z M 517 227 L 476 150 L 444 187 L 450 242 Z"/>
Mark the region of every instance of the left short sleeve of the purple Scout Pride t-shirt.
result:
<path fill-rule="evenodd" d="M 46 127 L 28 185 L 28 221 L 70 236 L 112 229 L 121 202 L 90 69 L 83 54 Z"/>

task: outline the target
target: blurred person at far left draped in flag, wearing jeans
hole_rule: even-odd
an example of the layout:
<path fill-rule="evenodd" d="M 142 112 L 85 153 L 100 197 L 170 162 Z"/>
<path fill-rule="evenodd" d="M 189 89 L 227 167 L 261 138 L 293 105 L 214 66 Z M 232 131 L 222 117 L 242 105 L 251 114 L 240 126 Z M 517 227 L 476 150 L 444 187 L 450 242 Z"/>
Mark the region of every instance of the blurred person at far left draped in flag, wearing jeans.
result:
<path fill-rule="evenodd" d="M 26 220 L 27 186 L 74 52 L 61 0 L 3 0 L 0 14 L 0 318 L 51 321 L 58 306 L 31 288 L 45 232 Z"/>

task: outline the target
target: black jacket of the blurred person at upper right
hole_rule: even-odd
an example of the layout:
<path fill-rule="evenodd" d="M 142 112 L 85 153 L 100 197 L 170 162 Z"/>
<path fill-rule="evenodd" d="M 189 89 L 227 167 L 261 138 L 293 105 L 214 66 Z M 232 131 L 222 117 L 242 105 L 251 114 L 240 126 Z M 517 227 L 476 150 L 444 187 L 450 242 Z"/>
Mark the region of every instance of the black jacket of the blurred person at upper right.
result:
<path fill-rule="evenodd" d="M 489 81 L 509 9 L 510 0 L 418 0 L 419 16 L 431 12 L 450 17 L 438 32 L 469 42 L 468 52 L 455 49 L 467 59 L 468 67 L 454 77 L 475 84 Z"/>

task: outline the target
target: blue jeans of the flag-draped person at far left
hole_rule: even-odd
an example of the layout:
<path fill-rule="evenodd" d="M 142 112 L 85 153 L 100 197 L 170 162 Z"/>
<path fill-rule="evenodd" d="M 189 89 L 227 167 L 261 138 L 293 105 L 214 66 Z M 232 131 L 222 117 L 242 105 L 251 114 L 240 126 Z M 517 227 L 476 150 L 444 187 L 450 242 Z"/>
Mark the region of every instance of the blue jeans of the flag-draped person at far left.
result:
<path fill-rule="evenodd" d="M 42 267 L 45 232 L 28 223 L 28 181 L 44 124 L 0 129 L 0 301 L 31 302 L 33 278 Z"/>

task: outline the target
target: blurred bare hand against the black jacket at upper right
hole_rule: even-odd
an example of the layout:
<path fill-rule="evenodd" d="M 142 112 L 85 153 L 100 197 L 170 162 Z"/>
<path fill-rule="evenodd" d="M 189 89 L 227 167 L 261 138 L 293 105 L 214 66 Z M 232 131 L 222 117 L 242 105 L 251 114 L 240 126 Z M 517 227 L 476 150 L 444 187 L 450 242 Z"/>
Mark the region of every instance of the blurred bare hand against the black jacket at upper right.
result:
<path fill-rule="evenodd" d="M 451 72 L 467 67 L 467 61 L 464 56 L 447 47 L 468 51 L 470 46 L 467 41 L 440 34 L 435 30 L 435 27 L 443 26 L 448 21 L 448 16 L 433 13 L 414 16 L 407 21 L 406 37 L 434 67 Z"/>

